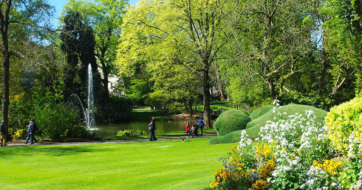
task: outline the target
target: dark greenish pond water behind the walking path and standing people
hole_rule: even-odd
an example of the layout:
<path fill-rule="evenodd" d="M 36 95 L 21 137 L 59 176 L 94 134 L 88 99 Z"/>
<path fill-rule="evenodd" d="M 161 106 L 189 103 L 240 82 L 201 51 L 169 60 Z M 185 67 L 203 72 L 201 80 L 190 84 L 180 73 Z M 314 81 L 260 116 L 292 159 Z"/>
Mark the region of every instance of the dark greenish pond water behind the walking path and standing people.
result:
<path fill-rule="evenodd" d="M 185 131 L 186 123 L 189 122 L 190 126 L 195 121 L 157 121 L 156 120 L 156 134 L 157 133 L 167 133 L 167 132 L 178 132 Z M 133 131 L 140 129 L 141 131 L 146 131 L 148 134 L 148 124 L 150 122 L 138 121 L 138 122 L 127 122 L 119 124 L 97 124 L 96 130 L 99 137 L 113 136 L 117 135 L 119 130 L 131 129 Z M 212 123 L 211 123 L 212 127 Z"/>

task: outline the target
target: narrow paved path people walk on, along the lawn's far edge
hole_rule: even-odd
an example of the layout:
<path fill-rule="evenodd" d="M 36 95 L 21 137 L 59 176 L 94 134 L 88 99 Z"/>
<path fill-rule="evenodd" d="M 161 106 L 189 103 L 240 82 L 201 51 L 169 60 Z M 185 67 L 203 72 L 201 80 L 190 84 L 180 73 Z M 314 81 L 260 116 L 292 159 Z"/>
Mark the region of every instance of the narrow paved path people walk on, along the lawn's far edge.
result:
<path fill-rule="evenodd" d="M 216 132 L 210 132 L 199 136 L 198 138 L 212 137 L 217 136 Z M 160 137 L 158 140 L 181 140 L 184 136 L 170 136 L 170 137 Z M 185 138 L 187 140 L 187 138 Z M 21 147 L 21 146 L 54 146 L 54 145 L 80 145 L 80 144 L 110 144 L 110 143 L 131 143 L 131 142 L 147 142 L 149 139 L 125 139 L 125 140 L 109 140 L 109 141 L 93 141 L 93 142 L 73 142 L 73 143 L 53 143 L 53 142 L 44 142 L 38 143 L 37 145 L 29 145 L 22 143 L 9 143 L 6 147 Z M 5 147 L 1 147 L 5 148 Z"/>

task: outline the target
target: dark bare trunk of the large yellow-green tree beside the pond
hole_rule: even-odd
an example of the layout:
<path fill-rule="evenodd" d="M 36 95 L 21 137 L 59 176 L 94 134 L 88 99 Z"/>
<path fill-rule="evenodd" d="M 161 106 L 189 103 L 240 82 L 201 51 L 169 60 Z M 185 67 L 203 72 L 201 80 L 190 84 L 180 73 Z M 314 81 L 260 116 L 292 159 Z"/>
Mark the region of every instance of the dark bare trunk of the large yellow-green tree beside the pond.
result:
<path fill-rule="evenodd" d="M 202 87 L 203 87 L 203 121 L 206 128 L 211 127 L 210 121 L 210 84 L 209 84 L 209 71 L 203 70 L 202 73 Z"/>

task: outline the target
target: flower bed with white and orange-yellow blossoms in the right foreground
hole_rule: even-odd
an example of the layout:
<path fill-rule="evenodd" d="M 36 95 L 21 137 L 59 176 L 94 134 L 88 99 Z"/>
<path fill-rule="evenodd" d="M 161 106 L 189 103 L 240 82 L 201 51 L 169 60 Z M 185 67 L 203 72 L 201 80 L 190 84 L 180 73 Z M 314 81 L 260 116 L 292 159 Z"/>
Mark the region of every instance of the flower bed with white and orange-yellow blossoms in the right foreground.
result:
<path fill-rule="evenodd" d="M 241 132 L 239 146 L 221 159 L 211 189 L 362 189 L 361 150 L 346 156 L 313 111 L 286 116 L 274 103 L 274 120 L 261 127 L 257 142 Z"/>

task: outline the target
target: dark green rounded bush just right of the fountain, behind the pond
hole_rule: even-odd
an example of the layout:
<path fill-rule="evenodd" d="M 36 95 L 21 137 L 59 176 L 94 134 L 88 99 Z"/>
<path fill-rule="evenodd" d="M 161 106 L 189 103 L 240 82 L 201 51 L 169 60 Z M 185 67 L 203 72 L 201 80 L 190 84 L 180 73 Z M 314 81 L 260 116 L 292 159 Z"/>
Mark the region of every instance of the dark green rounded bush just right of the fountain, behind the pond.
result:
<path fill-rule="evenodd" d="M 132 101 L 125 96 L 111 96 L 96 109 L 97 119 L 106 122 L 123 122 L 131 116 Z"/>

